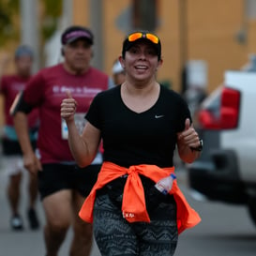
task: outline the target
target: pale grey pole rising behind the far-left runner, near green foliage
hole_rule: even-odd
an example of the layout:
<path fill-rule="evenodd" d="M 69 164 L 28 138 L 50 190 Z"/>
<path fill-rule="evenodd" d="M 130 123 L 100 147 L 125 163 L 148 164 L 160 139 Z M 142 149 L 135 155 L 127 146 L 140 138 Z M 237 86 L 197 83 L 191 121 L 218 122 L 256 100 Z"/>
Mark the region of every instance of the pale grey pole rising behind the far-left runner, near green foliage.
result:
<path fill-rule="evenodd" d="M 38 71 L 40 64 L 39 55 L 39 30 L 38 30 L 38 0 L 20 0 L 21 6 L 21 43 L 30 46 L 35 53 L 33 71 Z"/>

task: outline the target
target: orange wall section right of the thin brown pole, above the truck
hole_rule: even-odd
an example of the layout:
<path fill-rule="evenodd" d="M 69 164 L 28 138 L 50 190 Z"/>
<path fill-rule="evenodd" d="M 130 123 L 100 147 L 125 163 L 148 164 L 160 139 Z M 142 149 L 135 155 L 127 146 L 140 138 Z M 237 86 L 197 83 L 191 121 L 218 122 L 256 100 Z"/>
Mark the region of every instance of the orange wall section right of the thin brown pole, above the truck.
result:
<path fill-rule="evenodd" d="M 207 62 L 209 91 L 225 69 L 248 61 L 248 46 L 235 38 L 243 22 L 244 0 L 188 0 L 188 59 Z"/>

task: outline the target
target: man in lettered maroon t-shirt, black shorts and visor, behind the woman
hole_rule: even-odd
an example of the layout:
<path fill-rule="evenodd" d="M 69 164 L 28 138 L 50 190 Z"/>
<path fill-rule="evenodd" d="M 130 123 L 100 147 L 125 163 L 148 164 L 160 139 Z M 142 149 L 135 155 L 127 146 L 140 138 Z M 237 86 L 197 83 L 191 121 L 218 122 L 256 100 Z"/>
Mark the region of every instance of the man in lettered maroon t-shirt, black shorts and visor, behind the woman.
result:
<path fill-rule="evenodd" d="M 22 145 L 24 165 L 38 173 L 39 192 L 46 216 L 44 230 L 48 256 L 56 256 L 70 224 L 74 231 L 69 255 L 86 256 L 92 245 L 92 225 L 78 217 L 84 198 L 97 180 L 101 153 L 81 170 L 68 147 L 68 128 L 60 116 L 60 104 L 70 91 L 77 100 L 76 126 L 84 127 L 84 114 L 98 92 L 108 88 L 109 77 L 90 67 L 94 42 L 87 28 L 71 26 L 62 38 L 64 62 L 44 68 L 27 84 L 13 104 L 15 128 Z M 39 109 L 38 155 L 29 143 L 26 113 Z M 38 172 L 39 171 L 39 172 Z"/>

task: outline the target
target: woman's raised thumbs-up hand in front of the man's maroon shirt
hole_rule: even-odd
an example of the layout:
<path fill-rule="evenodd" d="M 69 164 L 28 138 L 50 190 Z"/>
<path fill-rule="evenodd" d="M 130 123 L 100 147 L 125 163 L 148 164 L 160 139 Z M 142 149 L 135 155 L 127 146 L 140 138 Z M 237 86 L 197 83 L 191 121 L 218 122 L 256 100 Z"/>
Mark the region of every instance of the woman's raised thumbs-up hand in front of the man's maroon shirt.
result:
<path fill-rule="evenodd" d="M 77 101 L 72 98 L 71 92 L 67 90 L 67 98 L 62 100 L 60 110 L 60 115 L 66 120 L 66 122 L 74 120 L 74 114 L 76 113 L 77 105 Z"/>

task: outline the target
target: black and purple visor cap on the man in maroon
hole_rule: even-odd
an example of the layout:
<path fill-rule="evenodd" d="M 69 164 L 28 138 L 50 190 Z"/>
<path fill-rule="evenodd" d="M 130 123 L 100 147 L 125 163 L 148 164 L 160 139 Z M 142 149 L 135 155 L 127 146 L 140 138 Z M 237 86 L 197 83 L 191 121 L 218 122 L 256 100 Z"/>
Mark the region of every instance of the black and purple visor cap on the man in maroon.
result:
<path fill-rule="evenodd" d="M 91 30 L 79 25 L 69 26 L 61 36 L 61 43 L 66 45 L 79 38 L 84 38 L 91 45 L 94 44 L 94 35 Z"/>

